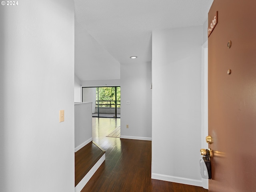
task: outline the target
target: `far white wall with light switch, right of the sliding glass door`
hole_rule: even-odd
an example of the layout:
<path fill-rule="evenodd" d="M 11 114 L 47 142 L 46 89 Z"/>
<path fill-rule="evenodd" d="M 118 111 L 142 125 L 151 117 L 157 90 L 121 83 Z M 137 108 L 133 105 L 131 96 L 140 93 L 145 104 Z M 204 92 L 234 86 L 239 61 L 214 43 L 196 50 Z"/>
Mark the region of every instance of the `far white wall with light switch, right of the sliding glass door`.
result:
<path fill-rule="evenodd" d="M 151 71 L 151 62 L 121 64 L 120 138 L 152 139 Z"/>

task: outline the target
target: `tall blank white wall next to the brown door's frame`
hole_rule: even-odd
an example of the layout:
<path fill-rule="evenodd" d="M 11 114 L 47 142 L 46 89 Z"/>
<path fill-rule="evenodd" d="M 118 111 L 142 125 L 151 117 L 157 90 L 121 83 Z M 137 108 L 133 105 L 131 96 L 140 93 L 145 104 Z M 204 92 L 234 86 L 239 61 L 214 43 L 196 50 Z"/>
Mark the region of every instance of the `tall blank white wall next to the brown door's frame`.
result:
<path fill-rule="evenodd" d="M 152 33 L 152 178 L 202 185 L 202 26 Z"/>

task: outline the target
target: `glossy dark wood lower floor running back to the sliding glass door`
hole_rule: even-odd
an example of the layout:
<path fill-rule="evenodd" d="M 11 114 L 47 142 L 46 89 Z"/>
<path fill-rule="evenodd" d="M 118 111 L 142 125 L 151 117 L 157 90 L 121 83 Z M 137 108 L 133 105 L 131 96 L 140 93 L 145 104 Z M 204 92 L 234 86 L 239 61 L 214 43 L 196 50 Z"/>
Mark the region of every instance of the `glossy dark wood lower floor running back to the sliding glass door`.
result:
<path fill-rule="evenodd" d="M 82 192 L 208 191 L 202 187 L 151 179 L 151 141 L 106 137 L 106 132 L 119 125 L 120 119 L 93 118 L 93 139 L 106 150 L 106 160 Z"/>

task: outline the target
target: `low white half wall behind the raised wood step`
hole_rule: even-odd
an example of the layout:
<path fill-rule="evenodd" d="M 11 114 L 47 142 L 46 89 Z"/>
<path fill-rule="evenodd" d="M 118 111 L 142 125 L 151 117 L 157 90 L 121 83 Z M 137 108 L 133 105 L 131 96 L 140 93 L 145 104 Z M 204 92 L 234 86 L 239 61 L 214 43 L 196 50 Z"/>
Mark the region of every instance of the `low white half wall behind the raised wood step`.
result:
<path fill-rule="evenodd" d="M 75 104 L 75 152 L 92 141 L 92 103 Z"/>

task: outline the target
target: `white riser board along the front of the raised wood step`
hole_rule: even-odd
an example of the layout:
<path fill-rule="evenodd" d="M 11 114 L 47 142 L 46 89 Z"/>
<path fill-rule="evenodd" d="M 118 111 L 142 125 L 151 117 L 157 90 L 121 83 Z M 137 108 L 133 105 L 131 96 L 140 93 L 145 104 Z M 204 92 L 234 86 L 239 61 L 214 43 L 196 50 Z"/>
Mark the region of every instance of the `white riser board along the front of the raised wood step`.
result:
<path fill-rule="evenodd" d="M 90 180 L 90 178 L 93 176 L 93 174 L 98 170 L 100 165 L 104 162 L 106 156 L 105 154 L 102 155 L 102 157 L 96 162 L 96 164 L 90 169 L 90 171 L 82 178 L 82 180 L 76 185 L 75 192 L 80 192 L 86 183 Z"/>

